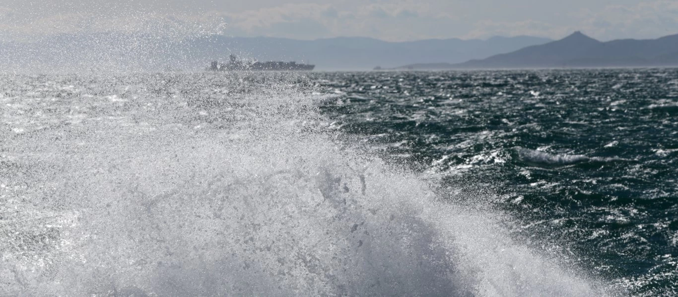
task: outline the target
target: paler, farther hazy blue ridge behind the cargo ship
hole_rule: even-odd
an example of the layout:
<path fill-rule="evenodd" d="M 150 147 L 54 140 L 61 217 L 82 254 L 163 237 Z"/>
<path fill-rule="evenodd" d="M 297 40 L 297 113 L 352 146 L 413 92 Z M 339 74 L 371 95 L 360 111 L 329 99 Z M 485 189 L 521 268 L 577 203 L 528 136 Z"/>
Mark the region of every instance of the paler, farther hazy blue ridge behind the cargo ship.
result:
<path fill-rule="evenodd" d="M 213 35 L 176 39 L 153 35 L 102 32 L 56 35 L 30 42 L 0 43 L 0 69 L 24 71 L 201 70 L 212 60 L 307 62 L 316 70 L 371 70 L 415 63 L 460 63 L 487 58 L 551 41 L 539 37 L 493 37 L 487 40 L 427 39 L 388 42 L 364 37 L 313 41 L 273 37 Z"/>

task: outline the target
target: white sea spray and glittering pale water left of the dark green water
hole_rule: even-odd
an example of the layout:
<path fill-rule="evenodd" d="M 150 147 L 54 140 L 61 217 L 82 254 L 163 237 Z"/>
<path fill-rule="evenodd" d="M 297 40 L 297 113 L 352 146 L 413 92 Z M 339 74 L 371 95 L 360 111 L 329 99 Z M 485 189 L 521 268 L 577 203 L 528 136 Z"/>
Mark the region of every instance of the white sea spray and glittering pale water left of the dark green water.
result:
<path fill-rule="evenodd" d="M 1 81 L 0 294 L 610 293 L 342 140 L 308 74 Z"/>

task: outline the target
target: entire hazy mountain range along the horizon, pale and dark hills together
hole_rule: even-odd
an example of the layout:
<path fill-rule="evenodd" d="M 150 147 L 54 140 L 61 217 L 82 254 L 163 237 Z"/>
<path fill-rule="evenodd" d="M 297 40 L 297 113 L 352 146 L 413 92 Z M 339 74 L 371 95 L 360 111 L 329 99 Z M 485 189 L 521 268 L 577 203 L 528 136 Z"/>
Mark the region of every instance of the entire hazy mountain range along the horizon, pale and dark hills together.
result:
<path fill-rule="evenodd" d="M 102 32 L 32 41 L 3 40 L 3 72 L 195 71 L 205 69 L 211 61 L 225 61 L 230 54 L 245 60 L 315 64 L 316 70 L 371 70 L 374 66 L 397 70 L 678 66 L 678 35 L 602 42 L 574 32 L 558 41 L 519 36 L 389 42 L 365 37 L 307 41 Z"/>

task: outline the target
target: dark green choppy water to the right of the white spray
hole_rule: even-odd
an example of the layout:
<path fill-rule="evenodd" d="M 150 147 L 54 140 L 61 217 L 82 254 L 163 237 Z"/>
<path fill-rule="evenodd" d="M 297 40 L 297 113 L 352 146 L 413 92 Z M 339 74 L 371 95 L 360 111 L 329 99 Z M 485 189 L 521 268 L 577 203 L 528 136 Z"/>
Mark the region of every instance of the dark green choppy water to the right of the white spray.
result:
<path fill-rule="evenodd" d="M 678 294 L 678 70 L 315 76 L 347 142 L 633 295 Z"/>

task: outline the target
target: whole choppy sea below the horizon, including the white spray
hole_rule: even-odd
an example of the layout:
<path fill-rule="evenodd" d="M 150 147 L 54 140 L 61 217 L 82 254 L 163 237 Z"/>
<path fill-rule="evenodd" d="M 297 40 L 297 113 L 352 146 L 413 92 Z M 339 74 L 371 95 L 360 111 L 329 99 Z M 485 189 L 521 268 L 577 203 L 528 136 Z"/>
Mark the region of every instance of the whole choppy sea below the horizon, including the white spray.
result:
<path fill-rule="evenodd" d="M 0 296 L 677 296 L 678 70 L 0 74 Z"/>

